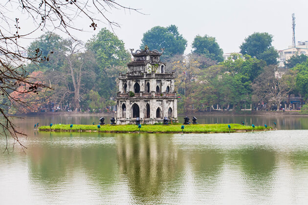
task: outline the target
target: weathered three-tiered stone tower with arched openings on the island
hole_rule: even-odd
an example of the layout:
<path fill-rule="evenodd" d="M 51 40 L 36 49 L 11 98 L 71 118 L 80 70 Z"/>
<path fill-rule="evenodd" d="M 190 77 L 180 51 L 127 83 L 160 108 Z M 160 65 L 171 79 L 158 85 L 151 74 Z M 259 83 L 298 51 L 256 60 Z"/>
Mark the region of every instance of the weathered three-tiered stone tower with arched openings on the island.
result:
<path fill-rule="evenodd" d="M 119 74 L 117 95 L 117 124 L 154 124 L 164 117 L 177 120 L 177 97 L 174 73 L 165 72 L 165 63 L 160 62 L 162 52 L 144 50 L 133 52 L 133 61 L 128 63 L 128 72 Z"/>

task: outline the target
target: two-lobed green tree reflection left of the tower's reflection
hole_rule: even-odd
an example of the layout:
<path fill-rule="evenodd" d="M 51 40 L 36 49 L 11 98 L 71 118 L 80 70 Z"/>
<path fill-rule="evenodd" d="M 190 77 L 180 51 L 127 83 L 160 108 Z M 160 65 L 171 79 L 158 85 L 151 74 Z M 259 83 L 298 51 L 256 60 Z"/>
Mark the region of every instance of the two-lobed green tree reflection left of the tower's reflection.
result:
<path fill-rule="evenodd" d="M 31 147 L 29 158 L 32 179 L 50 186 L 73 178 L 79 171 L 86 172 L 88 180 L 100 185 L 111 184 L 117 177 L 116 149 L 108 145 L 74 147 L 46 143 Z"/>

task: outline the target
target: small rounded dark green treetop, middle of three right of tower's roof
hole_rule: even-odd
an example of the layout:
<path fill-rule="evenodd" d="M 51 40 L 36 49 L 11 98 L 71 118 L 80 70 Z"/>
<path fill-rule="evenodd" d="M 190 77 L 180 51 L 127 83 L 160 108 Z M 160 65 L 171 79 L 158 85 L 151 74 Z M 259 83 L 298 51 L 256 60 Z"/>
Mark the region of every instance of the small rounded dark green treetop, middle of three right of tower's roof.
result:
<path fill-rule="evenodd" d="M 193 53 L 204 55 L 216 62 L 222 62 L 223 51 L 214 37 L 205 35 L 204 37 L 196 36 L 193 41 Z"/>

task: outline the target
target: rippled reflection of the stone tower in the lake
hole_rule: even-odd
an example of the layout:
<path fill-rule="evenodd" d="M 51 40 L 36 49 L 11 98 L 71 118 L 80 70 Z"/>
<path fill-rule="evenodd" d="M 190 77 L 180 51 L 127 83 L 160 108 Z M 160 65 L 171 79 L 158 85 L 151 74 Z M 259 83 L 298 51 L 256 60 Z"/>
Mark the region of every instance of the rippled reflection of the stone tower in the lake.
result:
<path fill-rule="evenodd" d="M 137 203 L 159 203 L 156 200 L 164 194 L 168 182 L 182 171 L 177 147 L 169 138 L 154 134 L 117 137 L 119 172 L 127 178 Z"/>

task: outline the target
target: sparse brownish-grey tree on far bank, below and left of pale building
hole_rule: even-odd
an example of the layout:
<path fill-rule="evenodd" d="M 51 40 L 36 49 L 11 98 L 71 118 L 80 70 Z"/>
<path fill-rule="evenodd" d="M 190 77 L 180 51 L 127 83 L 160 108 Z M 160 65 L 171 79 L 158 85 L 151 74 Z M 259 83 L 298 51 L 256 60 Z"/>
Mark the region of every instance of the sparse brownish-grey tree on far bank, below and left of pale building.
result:
<path fill-rule="evenodd" d="M 295 75 L 292 71 L 282 72 L 275 65 L 264 67 L 252 84 L 256 102 L 280 103 L 287 99 L 287 94 L 295 88 Z"/>

